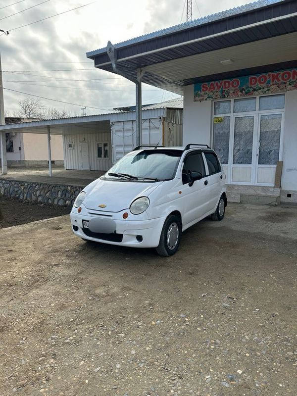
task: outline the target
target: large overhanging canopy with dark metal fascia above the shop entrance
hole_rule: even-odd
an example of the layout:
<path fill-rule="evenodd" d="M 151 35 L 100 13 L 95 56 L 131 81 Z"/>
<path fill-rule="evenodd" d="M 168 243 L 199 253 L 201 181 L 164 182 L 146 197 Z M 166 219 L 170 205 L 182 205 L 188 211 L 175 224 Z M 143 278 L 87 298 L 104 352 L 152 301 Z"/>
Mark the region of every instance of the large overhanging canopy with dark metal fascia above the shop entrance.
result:
<path fill-rule="evenodd" d="M 114 46 L 117 67 L 132 79 L 178 94 L 201 81 L 297 64 L 297 1 L 260 0 Z M 106 49 L 87 52 L 95 67 L 113 71 Z M 232 66 L 222 66 L 224 59 Z M 234 58 L 234 59 L 233 59 Z M 295 62 L 294 64 L 292 62 Z"/>

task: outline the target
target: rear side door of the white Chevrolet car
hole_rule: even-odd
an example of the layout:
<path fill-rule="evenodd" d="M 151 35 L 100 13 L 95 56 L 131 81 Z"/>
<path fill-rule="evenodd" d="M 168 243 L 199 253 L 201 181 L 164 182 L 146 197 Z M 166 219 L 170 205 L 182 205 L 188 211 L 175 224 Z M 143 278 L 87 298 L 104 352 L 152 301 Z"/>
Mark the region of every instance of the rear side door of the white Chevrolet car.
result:
<path fill-rule="evenodd" d="M 206 176 L 207 180 L 207 211 L 215 210 L 218 199 L 222 191 L 222 184 L 224 179 L 224 172 L 221 169 L 220 162 L 217 155 L 213 151 L 203 152 L 205 162 L 207 165 Z"/>

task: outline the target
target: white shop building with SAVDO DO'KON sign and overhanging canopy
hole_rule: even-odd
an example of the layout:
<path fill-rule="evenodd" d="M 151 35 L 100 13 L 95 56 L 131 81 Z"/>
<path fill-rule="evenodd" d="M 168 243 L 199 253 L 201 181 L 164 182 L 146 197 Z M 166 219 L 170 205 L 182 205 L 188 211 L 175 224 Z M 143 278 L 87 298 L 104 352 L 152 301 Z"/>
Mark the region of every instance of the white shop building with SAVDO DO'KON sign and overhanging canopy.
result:
<path fill-rule="evenodd" d="M 260 0 L 114 46 L 130 79 L 184 96 L 183 144 L 213 147 L 229 199 L 297 202 L 297 1 Z M 87 53 L 116 73 L 106 48 Z"/>

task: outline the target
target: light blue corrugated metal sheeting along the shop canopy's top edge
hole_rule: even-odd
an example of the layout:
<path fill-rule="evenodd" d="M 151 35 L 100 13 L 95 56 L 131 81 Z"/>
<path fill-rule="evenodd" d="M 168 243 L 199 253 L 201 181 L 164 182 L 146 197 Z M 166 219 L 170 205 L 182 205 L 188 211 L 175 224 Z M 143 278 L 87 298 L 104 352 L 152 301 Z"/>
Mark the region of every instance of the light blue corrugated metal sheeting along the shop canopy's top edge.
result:
<path fill-rule="evenodd" d="M 225 11 L 217 12 L 215 14 L 204 16 L 202 18 L 195 19 L 194 21 L 181 23 L 180 25 L 171 26 L 169 28 L 161 29 L 156 32 L 148 33 L 143 36 L 138 36 L 133 39 L 117 43 L 115 45 L 115 47 L 117 49 L 119 49 L 119 48 L 130 46 L 130 45 L 133 45 L 136 43 L 141 43 L 141 42 L 144 42 L 147 40 L 151 40 L 151 39 L 155 39 L 155 38 L 158 38 L 161 36 L 180 32 L 182 30 L 186 30 L 186 29 L 204 25 L 204 24 L 207 24 L 210 22 L 218 21 L 223 18 L 228 18 L 230 16 L 242 14 L 242 13 L 245 13 L 248 11 L 252 11 L 252 10 L 255 10 L 255 9 L 258 9 L 261 7 L 265 7 L 267 5 L 271 5 L 271 4 L 275 4 L 275 3 L 279 3 L 279 2 L 283 2 L 283 1 L 285 1 L 285 0 L 258 0 L 258 1 L 254 1 L 251 3 L 245 4 L 245 5 L 241 5 L 239 7 L 231 8 L 231 9 L 228 9 Z M 93 51 L 87 52 L 87 57 L 98 55 L 98 54 L 104 53 L 104 52 L 106 52 L 106 47 L 100 48 L 100 49 L 95 49 Z"/>

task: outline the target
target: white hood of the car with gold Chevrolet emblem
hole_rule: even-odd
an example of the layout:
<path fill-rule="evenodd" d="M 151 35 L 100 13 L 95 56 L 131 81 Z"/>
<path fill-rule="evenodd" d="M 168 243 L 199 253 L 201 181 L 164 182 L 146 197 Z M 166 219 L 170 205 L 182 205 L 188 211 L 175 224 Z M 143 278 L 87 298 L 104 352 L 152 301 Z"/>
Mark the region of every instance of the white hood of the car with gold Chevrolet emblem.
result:
<path fill-rule="evenodd" d="M 162 183 L 98 179 L 84 189 L 87 195 L 83 205 L 92 210 L 120 212 L 128 209 L 134 199 L 148 197 Z"/>

